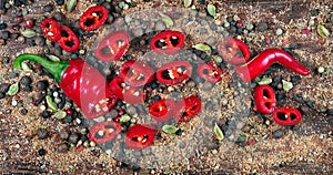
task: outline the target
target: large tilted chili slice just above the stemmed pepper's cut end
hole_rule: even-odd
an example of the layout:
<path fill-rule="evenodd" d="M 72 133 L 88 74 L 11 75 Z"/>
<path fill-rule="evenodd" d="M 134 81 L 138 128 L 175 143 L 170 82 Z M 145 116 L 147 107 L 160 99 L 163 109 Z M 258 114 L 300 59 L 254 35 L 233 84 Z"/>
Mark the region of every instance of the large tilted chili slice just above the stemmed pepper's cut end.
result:
<path fill-rule="evenodd" d="M 121 58 L 130 45 L 130 37 L 124 31 L 108 34 L 94 50 L 98 59 L 112 62 Z"/>

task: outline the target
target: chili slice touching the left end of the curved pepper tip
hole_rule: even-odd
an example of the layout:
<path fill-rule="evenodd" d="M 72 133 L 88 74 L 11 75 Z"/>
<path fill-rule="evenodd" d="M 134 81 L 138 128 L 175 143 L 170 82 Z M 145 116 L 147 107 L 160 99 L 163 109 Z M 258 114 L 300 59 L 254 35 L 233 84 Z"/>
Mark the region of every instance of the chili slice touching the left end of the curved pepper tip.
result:
<path fill-rule="evenodd" d="M 248 45 L 242 40 L 235 38 L 226 38 L 219 44 L 218 50 L 226 62 L 235 65 L 246 63 L 251 55 Z M 243 55 L 236 55 L 238 52 L 241 52 Z"/>

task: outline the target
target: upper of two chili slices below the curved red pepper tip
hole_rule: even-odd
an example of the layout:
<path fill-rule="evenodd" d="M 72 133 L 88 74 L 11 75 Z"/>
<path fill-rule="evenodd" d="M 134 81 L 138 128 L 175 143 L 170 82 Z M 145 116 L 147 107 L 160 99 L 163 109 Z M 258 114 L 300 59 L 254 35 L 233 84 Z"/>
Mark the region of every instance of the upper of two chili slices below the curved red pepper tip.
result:
<path fill-rule="evenodd" d="M 276 99 L 274 90 L 270 85 L 258 85 L 254 89 L 255 110 L 263 114 L 270 114 L 275 110 Z"/>

